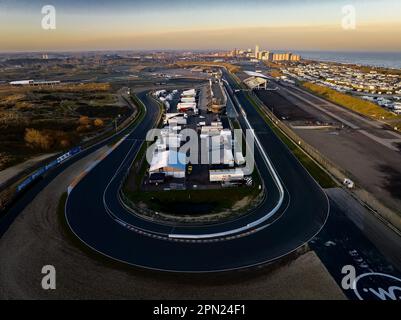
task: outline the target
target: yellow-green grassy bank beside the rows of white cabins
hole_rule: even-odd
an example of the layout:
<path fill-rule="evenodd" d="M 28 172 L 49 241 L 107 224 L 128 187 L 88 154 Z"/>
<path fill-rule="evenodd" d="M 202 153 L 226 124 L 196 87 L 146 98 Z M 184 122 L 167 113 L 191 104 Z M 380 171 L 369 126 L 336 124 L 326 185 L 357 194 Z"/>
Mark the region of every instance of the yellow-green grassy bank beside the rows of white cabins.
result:
<path fill-rule="evenodd" d="M 317 85 L 311 82 L 301 84 L 308 91 L 317 94 L 335 104 L 350 109 L 372 119 L 385 121 L 388 125 L 401 127 L 401 116 L 397 116 L 377 104 L 366 101 L 334 89 Z"/>

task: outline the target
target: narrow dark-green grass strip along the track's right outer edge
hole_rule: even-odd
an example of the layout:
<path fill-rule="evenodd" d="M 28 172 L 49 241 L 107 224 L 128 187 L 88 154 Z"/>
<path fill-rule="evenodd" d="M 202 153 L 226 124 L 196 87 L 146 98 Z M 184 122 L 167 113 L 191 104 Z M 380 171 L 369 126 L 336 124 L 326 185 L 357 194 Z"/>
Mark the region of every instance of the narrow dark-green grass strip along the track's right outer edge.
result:
<path fill-rule="evenodd" d="M 247 97 L 249 102 L 254 106 L 258 113 L 263 117 L 265 122 L 274 131 L 274 133 L 283 141 L 291 152 L 297 157 L 302 163 L 304 168 L 312 175 L 312 177 L 320 184 L 322 188 L 333 188 L 336 183 L 333 179 L 305 152 L 303 152 L 298 145 L 296 145 L 290 138 L 288 138 L 273 122 L 266 116 L 266 114 L 259 108 L 255 101 L 251 97 Z"/>

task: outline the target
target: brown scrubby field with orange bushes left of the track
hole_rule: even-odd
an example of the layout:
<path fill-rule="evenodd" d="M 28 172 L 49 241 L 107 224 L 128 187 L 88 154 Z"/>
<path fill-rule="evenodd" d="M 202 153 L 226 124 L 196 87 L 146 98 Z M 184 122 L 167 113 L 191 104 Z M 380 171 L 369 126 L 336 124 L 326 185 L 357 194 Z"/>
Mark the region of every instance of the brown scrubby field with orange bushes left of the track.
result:
<path fill-rule="evenodd" d="M 108 84 L 0 86 L 0 170 L 66 150 L 129 112 Z"/>

